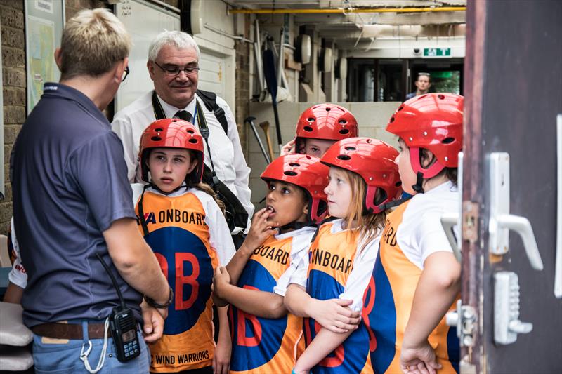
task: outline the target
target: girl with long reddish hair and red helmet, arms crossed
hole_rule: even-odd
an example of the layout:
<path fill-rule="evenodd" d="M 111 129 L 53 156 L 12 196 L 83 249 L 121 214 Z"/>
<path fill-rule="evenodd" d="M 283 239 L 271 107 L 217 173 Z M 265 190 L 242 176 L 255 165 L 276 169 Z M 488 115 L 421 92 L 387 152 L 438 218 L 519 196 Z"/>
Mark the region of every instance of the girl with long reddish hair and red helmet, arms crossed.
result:
<path fill-rule="evenodd" d="M 306 264 L 285 296 L 304 319 L 306 350 L 294 373 L 369 373 L 369 331 L 359 323 L 363 293 L 377 258 L 386 204 L 402 192 L 396 149 L 380 140 L 336 142 L 320 160 L 329 166 L 325 192 L 332 218 L 318 229 Z M 342 311 L 343 309 L 343 311 Z"/>

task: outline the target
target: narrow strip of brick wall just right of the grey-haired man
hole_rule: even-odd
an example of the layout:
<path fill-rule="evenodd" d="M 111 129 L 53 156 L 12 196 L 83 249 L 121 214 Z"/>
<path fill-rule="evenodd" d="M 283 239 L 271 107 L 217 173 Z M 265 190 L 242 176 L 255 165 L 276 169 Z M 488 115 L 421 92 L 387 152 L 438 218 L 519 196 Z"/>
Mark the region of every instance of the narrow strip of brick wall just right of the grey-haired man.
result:
<path fill-rule="evenodd" d="M 246 16 L 244 27 L 244 37 L 249 38 L 249 18 Z M 244 41 L 235 41 L 236 53 L 236 80 L 235 80 L 235 105 L 236 105 L 236 123 L 238 125 L 238 133 L 240 133 L 240 142 L 244 155 L 247 152 L 247 125 L 244 119 L 249 116 L 249 98 L 250 98 L 250 44 Z"/>

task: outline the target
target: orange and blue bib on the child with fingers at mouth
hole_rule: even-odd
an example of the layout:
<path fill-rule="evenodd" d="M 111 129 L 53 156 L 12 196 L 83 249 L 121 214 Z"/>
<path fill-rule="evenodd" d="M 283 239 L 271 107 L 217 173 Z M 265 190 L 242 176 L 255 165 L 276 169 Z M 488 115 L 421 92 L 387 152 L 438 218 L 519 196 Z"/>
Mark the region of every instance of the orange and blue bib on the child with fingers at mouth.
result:
<path fill-rule="evenodd" d="M 266 239 L 250 256 L 237 286 L 273 293 L 289 267 L 292 240 L 292 236 Z M 296 354 L 303 350 L 300 317 L 267 319 L 233 306 L 228 315 L 233 338 L 230 373 L 291 373 Z"/>

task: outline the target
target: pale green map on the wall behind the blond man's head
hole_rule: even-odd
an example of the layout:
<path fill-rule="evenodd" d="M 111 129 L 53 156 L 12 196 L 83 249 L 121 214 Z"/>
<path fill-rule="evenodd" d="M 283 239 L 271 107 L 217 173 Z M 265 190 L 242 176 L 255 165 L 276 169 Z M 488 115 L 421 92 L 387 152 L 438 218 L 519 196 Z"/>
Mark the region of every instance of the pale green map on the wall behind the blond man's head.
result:
<path fill-rule="evenodd" d="M 55 23 L 29 16 L 27 34 L 32 40 L 28 46 L 28 73 L 30 77 L 29 107 L 34 107 L 43 93 L 45 82 L 58 81 L 58 68 L 55 66 Z"/>

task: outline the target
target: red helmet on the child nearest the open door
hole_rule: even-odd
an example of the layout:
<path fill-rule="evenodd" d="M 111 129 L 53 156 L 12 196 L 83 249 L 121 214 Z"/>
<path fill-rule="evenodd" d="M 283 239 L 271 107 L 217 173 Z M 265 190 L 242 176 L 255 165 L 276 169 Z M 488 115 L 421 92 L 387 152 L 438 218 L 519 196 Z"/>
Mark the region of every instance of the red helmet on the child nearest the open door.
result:
<path fill-rule="evenodd" d="M 462 149 L 464 97 L 454 93 L 428 93 L 404 102 L 394 112 L 386 131 L 398 135 L 410 149 L 414 173 L 433 178 L 444 168 L 459 165 Z M 419 149 L 429 149 L 436 162 L 422 168 Z"/>

